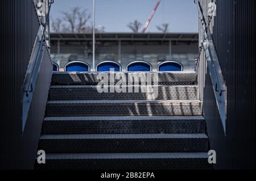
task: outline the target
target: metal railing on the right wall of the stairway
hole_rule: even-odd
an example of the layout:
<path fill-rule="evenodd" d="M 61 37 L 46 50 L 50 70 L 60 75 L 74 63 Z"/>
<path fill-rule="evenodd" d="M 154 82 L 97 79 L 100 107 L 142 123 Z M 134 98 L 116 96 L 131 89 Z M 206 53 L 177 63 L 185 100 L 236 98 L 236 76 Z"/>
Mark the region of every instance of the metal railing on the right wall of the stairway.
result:
<path fill-rule="evenodd" d="M 224 129 L 224 133 L 226 134 L 226 105 L 227 105 L 226 85 L 222 75 L 220 62 L 218 61 L 218 56 L 217 56 L 216 48 L 214 46 L 212 33 L 210 32 L 210 21 L 212 20 L 212 17 L 214 15 L 214 8 L 210 7 L 208 11 L 208 21 L 207 21 L 205 19 L 200 0 L 195 0 L 195 3 L 197 4 L 201 26 L 203 27 L 203 41 L 201 43 L 200 49 L 204 49 L 204 52 L 205 52 L 218 111 L 220 113 L 220 118 L 221 118 L 222 126 Z M 216 1 L 213 1 L 213 5 L 216 6 Z M 198 61 L 200 61 L 200 55 L 199 55 Z M 199 64 L 197 63 L 197 69 L 198 69 L 198 66 Z"/>

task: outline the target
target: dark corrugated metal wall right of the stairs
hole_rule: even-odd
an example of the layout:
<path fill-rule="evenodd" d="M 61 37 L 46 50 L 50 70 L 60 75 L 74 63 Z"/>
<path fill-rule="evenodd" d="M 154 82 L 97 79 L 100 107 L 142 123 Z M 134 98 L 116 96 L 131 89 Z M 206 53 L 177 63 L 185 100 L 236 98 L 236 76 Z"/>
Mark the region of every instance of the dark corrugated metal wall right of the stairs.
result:
<path fill-rule="evenodd" d="M 255 0 L 218 0 L 213 37 L 228 89 L 224 136 L 207 73 L 204 115 L 214 168 L 255 169 Z"/>

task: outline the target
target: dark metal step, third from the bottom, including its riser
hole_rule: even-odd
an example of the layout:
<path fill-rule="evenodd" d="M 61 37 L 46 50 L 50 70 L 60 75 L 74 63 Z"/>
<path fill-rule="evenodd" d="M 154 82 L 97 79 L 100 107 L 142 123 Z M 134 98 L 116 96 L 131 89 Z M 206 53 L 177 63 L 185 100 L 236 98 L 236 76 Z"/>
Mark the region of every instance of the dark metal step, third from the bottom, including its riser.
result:
<path fill-rule="evenodd" d="M 43 134 L 205 133 L 203 116 L 46 117 Z"/>

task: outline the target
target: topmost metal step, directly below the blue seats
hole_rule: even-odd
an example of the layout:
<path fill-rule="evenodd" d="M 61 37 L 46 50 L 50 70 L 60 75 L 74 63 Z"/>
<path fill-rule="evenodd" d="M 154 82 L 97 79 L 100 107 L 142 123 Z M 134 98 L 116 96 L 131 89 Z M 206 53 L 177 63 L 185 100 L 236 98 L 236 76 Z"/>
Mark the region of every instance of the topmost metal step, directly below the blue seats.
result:
<path fill-rule="evenodd" d="M 79 72 L 58 72 L 52 75 L 52 85 L 97 85 L 103 80 L 102 75 L 105 76 L 105 80 L 109 82 L 110 73 L 79 73 Z M 169 71 L 169 72 L 115 72 L 114 82 L 119 82 L 120 79 L 126 81 L 126 83 L 137 84 L 145 82 L 145 77 L 155 81 L 160 85 L 195 85 L 196 72 L 195 71 Z M 114 79 L 113 78 L 113 79 Z"/>

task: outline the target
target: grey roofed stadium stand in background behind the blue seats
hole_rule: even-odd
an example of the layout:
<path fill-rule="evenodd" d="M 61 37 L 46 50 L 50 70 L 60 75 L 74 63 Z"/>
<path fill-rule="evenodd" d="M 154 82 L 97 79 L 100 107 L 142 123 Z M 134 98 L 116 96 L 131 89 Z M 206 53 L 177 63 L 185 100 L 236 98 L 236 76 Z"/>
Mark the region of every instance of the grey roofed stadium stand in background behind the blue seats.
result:
<path fill-rule="evenodd" d="M 156 68 L 159 61 L 178 60 L 193 70 L 198 57 L 198 33 L 97 33 L 96 64 L 114 60 L 125 69 L 134 60 L 146 60 Z M 83 60 L 92 66 L 91 33 L 51 33 L 51 58 L 60 65 Z"/>

